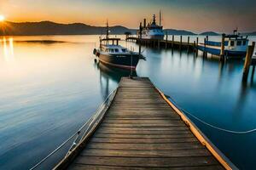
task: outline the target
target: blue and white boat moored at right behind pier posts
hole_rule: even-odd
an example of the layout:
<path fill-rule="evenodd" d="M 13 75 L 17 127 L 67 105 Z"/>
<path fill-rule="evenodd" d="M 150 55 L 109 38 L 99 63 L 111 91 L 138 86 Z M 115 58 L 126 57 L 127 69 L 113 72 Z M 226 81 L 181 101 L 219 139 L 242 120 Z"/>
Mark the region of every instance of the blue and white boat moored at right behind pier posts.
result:
<path fill-rule="evenodd" d="M 243 58 L 247 54 L 249 40 L 247 37 L 240 36 L 237 29 L 232 35 L 224 36 L 224 56 Z M 221 42 L 206 41 L 199 43 L 198 49 L 209 54 L 221 54 Z"/>

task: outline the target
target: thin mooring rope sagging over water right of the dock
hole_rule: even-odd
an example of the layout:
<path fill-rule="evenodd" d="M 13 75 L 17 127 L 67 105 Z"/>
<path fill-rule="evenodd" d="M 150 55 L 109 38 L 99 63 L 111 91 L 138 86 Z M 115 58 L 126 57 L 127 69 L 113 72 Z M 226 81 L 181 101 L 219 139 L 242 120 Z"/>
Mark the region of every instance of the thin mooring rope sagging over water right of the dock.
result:
<path fill-rule="evenodd" d="M 166 97 L 172 99 L 171 96 L 166 95 Z M 198 122 L 201 122 L 201 123 L 207 125 L 208 127 L 212 127 L 212 128 L 218 129 L 218 130 L 223 131 L 223 132 L 226 132 L 226 133 L 247 134 L 247 133 L 256 132 L 256 128 L 253 128 L 253 129 L 247 130 L 247 131 L 234 131 L 234 130 L 229 130 L 229 129 L 225 129 L 225 128 L 222 128 L 222 127 L 216 127 L 216 126 L 214 126 L 214 125 L 212 125 L 212 124 L 210 124 L 210 123 L 208 123 L 208 122 L 202 121 L 199 117 L 197 117 L 197 116 L 195 116 L 195 115 L 189 113 L 189 111 L 186 111 L 186 110 L 184 110 L 182 107 L 178 106 L 178 105 L 177 105 L 177 102 L 175 101 L 175 99 L 172 99 L 172 103 L 173 103 L 174 105 L 176 105 L 177 108 L 178 108 L 180 111 L 183 111 L 185 114 L 187 114 L 187 115 L 189 115 L 189 116 L 192 116 L 193 118 L 195 118 L 195 120 L 197 120 Z"/>

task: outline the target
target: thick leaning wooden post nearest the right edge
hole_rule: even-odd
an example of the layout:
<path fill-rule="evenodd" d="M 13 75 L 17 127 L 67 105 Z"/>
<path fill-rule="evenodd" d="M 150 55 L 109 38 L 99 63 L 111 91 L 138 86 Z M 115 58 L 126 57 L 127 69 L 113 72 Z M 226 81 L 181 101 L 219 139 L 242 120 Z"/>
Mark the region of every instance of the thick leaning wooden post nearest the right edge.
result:
<path fill-rule="evenodd" d="M 243 82 L 247 81 L 247 77 L 248 77 L 248 73 L 250 70 L 251 61 L 252 61 L 252 57 L 253 57 L 254 47 L 255 47 L 255 42 L 253 42 L 253 44 L 248 46 L 248 48 L 247 48 L 246 60 L 243 65 L 243 74 L 242 74 Z"/>

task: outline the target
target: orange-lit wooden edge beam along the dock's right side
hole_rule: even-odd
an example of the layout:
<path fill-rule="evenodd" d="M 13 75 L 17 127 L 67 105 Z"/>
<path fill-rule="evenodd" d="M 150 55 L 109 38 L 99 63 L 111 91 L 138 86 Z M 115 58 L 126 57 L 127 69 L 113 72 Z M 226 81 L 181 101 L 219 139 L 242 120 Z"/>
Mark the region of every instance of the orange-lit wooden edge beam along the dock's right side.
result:
<path fill-rule="evenodd" d="M 153 82 L 152 82 L 153 83 Z M 201 130 L 195 126 L 195 124 L 189 119 L 188 116 L 184 115 L 182 111 L 180 111 L 175 105 L 172 104 L 172 102 L 166 98 L 166 95 L 163 94 L 160 89 L 154 88 L 159 92 L 161 97 L 166 100 L 166 103 L 172 107 L 174 111 L 177 112 L 177 114 L 181 117 L 183 122 L 189 127 L 190 131 L 195 135 L 195 137 L 207 147 L 207 150 L 209 150 L 212 153 L 212 156 L 214 156 L 225 169 L 238 169 L 224 154 L 218 150 L 218 148 L 212 144 L 210 139 L 208 139 L 204 133 L 201 132 Z"/>

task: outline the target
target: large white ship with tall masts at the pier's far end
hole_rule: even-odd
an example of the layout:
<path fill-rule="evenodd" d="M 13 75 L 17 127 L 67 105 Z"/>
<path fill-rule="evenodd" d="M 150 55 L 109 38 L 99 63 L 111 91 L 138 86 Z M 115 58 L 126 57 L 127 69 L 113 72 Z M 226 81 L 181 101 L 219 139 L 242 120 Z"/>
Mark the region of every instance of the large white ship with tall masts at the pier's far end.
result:
<path fill-rule="evenodd" d="M 160 12 L 160 20 L 159 25 L 156 24 L 155 14 L 153 15 L 153 22 L 146 23 L 146 19 L 144 19 L 144 25 L 142 30 L 142 38 L 144 39 L 164 39 L 165 34 L 163 31 L 163 26 L 161 26 L 161 12 Z"/>

